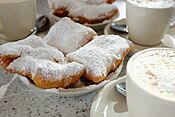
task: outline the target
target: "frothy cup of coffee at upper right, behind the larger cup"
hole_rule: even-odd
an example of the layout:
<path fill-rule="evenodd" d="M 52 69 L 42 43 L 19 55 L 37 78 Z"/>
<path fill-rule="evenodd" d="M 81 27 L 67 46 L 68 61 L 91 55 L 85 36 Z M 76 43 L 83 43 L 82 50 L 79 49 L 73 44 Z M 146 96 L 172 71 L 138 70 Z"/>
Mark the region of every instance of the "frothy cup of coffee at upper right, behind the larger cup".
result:
<path fill-rule="evenodd" d="M 140 45 L 157 45 L 168 30 L 174 0 L 126 0 L 129 38 Z"/>

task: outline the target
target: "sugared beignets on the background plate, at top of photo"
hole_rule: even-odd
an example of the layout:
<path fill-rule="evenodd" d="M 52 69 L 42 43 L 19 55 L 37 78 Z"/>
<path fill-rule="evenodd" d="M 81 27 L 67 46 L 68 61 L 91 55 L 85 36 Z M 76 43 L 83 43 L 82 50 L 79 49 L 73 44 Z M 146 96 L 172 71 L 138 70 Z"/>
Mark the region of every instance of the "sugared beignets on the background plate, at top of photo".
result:
<path fill-rule="evenodd" d="M 48 0 L 48 3 L 54 15 L 70 17 L 81 24 L 101 23 L 118 14 L 115 5 L 105 2 L 98 4 L 87 0 Z"/>

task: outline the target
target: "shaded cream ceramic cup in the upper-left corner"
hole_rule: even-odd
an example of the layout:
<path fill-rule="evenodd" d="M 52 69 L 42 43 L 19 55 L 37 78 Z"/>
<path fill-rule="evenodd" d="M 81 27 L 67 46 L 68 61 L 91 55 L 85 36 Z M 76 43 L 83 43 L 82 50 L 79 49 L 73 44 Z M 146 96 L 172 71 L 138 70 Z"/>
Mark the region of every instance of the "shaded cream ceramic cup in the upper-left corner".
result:
<path fill-rule="evenodd" d="M 0 39 L 25 38 L 35 27 L 36 0 L 0 0 Z"/>

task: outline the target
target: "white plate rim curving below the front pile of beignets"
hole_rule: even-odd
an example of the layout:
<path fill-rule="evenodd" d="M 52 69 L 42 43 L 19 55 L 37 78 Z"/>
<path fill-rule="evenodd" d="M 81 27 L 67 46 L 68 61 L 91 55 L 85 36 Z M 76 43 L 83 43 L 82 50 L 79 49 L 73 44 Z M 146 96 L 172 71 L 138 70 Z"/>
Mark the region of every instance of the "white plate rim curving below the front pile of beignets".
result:
<path fill-rule="evenodd" d="M 112 74 L 110 74 L 107 78 L 107 80 L 102 81 L 99 84 L 94 84 L 94 85 L 89 85 L 87 87 L 82 87 L 82 88 L 70 88 L 70 89 L 63 89 L 63 88 L 52 88 L 52 89 L 41 89 L 38 88 L 37 86 L 35 86 L 33 83 L 31 83 L 27 78 L 22 77 L 20 75 L 19 78 L 29 87 L 31 87 L 33 90 L 38 90 L 44 93 L 54 93 L 54 94 L 58 94 L 61 96 L 67 96 L 67 97 L 71 97 L 71 96 L 80 96 L 80 95 L 84 95 L 90 92 L 93 92 L 101 87 L 103 87 L 105 84 L 109 83 L 110 81 L 116 79 L 119 75 L 119 73 L 121 72 L 123 67 L 123 64 L 121 64 L 115 72 L 113 72 Z"/>

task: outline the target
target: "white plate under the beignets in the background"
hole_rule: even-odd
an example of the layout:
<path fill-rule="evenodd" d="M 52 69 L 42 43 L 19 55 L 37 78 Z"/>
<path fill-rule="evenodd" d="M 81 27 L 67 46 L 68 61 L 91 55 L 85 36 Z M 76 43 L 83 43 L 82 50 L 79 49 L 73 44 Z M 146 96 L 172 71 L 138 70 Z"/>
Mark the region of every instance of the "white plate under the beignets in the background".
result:
<path fill-rule="evenodd" d="M 93 28 L 94 30 L 100 30 L 103 29 L 107 24 L 111 23 L 112 21 L 116 19 L 121 19 L 125 16 L 125 1 L 124 0 L 117 0 L 116 2 L 113 3 L 114 5 L 117 6 L 119 10 L 119 14 L 113 16 L 110 20 L 105 20 L 102 23 L 97 23 L 97 24 L 85 24 L 88 27 Z M 60 17 L 55 16 L 52 11 L 50 12 L 50 16 L 55 19 L 56 21 L 60 20 Z"/>

